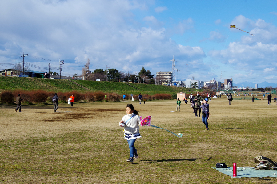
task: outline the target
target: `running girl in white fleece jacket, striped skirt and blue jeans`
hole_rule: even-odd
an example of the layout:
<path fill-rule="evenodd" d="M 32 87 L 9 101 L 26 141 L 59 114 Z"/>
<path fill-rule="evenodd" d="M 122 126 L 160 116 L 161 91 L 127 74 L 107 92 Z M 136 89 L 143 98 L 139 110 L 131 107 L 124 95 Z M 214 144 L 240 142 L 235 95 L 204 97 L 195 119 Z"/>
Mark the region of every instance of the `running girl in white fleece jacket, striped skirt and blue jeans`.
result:
<path fill-rule="evenodd" d="M 123 116 L 122 120 L 119 122 L 121 127 L 124 127 L 124 138 L 127 140 L 130 149 L 130 158 L 127 162 L 134 162 L 134 158 L 139 158 L 137 149 L 134 146 L 137 138 L 140 138 L 139 125 L 141 126 L 141 121 L 138 111 L 134 109 L 132 104 L 127 104 L 126 115 Z"/>

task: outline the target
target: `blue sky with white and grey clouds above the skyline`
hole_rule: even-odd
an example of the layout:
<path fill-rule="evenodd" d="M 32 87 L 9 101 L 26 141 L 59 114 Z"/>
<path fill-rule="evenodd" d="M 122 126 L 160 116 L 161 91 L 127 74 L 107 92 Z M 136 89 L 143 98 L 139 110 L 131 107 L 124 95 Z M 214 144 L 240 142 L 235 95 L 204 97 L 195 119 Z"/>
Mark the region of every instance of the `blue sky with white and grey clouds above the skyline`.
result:
<path fill-rule="evenodd" d="M 155 74 L 171 71 L 174 55 L 177 79 L 277 83 L 276 7 L 273 0 L 1 1 L 0 69 L 22 62 L 24 52 L 32 70 L 64 60 L 66 76 L 80 75 L 88 58 L 90 71 Z"/>

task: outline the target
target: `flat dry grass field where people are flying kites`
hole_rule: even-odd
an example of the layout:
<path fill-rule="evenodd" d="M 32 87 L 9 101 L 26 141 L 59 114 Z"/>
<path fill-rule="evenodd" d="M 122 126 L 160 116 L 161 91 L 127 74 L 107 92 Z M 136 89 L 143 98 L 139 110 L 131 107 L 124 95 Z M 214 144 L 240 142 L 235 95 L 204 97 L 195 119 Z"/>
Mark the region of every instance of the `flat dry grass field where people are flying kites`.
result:
<path fill-rule="evenodd" d="M 0 183 L 276 183 L 277 178 L 231 178 L 212 169 L 217 162 L 254 167 L 254 157 L 277 161 L 276 102 L 211 99 L 210 130 L 190 105 L 176 101 L 132 102 L 151 124 L 129 148 L 118 122 L 129 102 L 76 102 L 22 106 L 0 104 Z"/>

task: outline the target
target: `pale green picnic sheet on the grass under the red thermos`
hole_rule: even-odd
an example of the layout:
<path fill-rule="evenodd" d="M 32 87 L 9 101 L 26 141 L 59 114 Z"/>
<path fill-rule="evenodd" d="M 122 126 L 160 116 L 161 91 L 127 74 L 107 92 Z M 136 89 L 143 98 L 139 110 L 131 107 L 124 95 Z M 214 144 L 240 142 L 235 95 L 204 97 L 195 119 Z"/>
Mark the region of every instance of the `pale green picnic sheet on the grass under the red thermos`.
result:
<path fill-rule="evenodd" d="M 222 172 L 223 174 L 227 174 L 228 176 L 231 176 L 231 178 L 252 178 L 252 177 L 277 177 L 277 170 L 255 170 L 254 167 L 237 167 L 237 176 L 233 177 L 233 167 L 228 168 L 215 168 L 219 172 Z"/>

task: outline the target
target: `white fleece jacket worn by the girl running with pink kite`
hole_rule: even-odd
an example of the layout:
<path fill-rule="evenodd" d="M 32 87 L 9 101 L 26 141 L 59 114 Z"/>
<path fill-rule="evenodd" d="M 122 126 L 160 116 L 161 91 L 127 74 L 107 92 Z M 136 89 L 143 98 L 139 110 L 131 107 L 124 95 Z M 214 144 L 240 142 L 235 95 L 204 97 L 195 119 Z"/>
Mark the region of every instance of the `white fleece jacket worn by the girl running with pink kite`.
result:
<path fill-rule="evenodd" d="M 139 125 L 141 126 L 141 121 L 138 115 L 134 115 L 134 117 L 132 117 L 134 115 L 134 113 L 132 114 L 127 114 L 125 116 L 122 117 L 122 120 L 125 124 L 124 126 L 124 132 L 126 134 L 134 134 L 134 133 L 139 133 Z M 130 117 L 132 117 L 130 119 Z M 120 123 L 119 123 L 120 126 Z"/>

